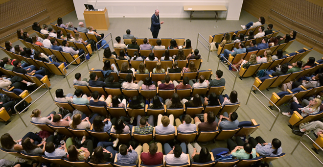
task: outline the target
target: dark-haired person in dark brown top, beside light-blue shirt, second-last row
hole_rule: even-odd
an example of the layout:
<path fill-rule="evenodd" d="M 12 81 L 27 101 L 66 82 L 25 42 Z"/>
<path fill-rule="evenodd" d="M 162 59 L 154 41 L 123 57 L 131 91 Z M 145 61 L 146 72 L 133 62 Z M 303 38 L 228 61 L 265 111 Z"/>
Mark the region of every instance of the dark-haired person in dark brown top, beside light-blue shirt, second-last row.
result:
<path fill-rule="evenodd" d="M 217 129 L 218 122 L 216 121 L 216 117 L 213 112 L 209 111 L 203 115 L 204 122 L 198 117 L 194 118 L 194 122 L 200 131 L 214 131 Z"/>

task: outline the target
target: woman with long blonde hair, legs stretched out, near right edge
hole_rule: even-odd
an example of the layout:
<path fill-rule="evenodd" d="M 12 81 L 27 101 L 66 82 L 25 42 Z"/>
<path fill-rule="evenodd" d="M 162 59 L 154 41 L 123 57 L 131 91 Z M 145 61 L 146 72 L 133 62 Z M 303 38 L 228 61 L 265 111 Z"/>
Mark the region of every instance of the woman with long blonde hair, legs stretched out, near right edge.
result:
<path fill-rule="evenodd" d="M 291 110 L 289 112 L 282 113 L 282 115 L 292 117 L 294 111 L 297 111 L 302 117 L 316 114 L 320 111 L 321 103 L 322 100 L 320 98 L 314 98 L 313 100 L 309 101 L 307 106 L 303 107 L 297 102 L 293 101 L 291 104 Z"/>

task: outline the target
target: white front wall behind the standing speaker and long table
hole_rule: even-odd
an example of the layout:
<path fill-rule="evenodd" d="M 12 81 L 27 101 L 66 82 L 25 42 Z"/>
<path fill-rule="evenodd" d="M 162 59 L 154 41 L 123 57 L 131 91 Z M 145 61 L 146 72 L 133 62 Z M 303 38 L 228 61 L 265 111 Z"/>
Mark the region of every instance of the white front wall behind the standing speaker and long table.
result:
<path fill-rule="evenodd" d="M 94 6 L 95 0 L 73 0 L 78 19 L 84 19 L 84 3 Z M 87 1 L 87 2 L 85 2 Z M 95 9 L 107 8 L 109 17 L 151 17 L 155 9 L 160 10 L 163 18 L 189 18 L 189 12 L 185 12 L 184 5 L 225 5 L 228 9 L 229 0 L 97 0 Z M 79 9 L 80 8 L 80 9 Z M 239 11 L 240 14 L 240 11 Z M 215 12 L 194 12 L 195 18 L 214 18 Z M 226 18 L 227 12 L 219 12 L 219 18 Z"/>

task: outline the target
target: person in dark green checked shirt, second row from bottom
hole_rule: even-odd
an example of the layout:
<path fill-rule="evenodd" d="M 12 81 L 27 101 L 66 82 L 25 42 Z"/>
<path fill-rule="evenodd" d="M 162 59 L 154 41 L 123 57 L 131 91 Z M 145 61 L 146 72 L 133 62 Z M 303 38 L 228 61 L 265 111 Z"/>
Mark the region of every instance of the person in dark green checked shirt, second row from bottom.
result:
<path fill-rule="evenodd" d="M 150 124 L 150 123 L 151 124 Z M 146 117 L 141 117 L 140 115 L 138 115 L 137 117 L 137 126 L 135 126 L 135 133 L 138 134 L 149 134 L 149 133 L 153 133 L 154 127 L 154 116 L 151 115 L 149 116 L 149 119 L 147 121 Z"/>

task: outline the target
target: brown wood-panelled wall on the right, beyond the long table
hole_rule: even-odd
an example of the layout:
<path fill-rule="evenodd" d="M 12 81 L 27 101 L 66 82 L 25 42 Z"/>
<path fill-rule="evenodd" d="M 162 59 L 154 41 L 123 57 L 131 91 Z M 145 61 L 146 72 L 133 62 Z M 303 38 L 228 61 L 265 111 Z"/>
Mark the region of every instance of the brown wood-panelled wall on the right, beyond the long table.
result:
<path fill-rule="evenodd" d="M 245 0 L 242 8 L 256 17 L 265 17 L 266 24 L 274 24 L 275 29 L 279 29 L 283 33 L 289 33 L 292 29 L 310 37 L 308 38 L 298 33 L 297 40 L 323 53 L 323 44 L 321 44 L 323 43 L 323 34 L 318 32 L 323 32 L 323 5 L 319 5 L 317 0 Z M 276 21 L 269 18 L 269 16 Z"/>

